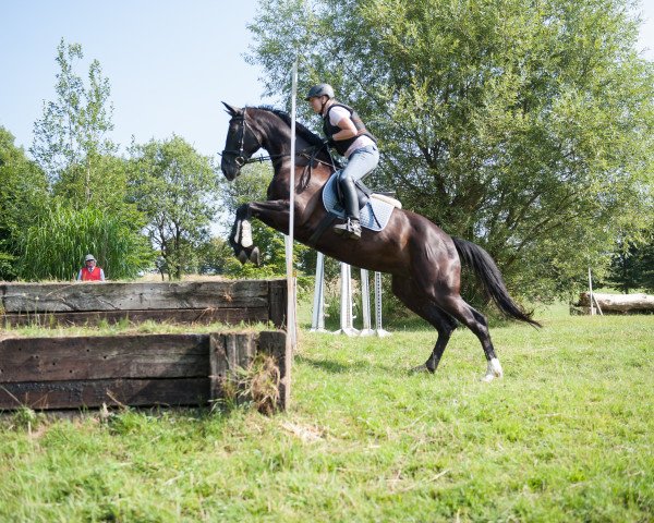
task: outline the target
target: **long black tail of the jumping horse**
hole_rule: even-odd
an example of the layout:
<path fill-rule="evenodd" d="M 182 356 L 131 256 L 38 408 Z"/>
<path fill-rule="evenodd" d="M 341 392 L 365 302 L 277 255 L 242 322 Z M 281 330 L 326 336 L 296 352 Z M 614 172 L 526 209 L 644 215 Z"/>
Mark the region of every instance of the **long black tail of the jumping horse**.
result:
<path fill-rule="evenodd" d="M 452 240 L 462 263 L 474 270 L 484 289 L 502 313 L 521 321 L 526 321 L 534 327 L 542 327 L 541 324 L 531 318 L 533 313 L 525 313 L 511 300 L 497 265 L 486 251 L 460 238 L 452 236 Z"/>

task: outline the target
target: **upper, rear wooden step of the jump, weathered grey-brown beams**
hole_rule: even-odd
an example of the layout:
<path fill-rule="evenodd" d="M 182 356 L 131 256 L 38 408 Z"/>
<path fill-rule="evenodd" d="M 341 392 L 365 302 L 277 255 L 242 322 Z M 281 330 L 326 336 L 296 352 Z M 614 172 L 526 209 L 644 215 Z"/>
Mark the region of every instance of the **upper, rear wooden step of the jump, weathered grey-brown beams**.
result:
<path fill-rule="evenodd" d="M 286 280 L 0 284 L 0 325 L 286 321 Z"/>

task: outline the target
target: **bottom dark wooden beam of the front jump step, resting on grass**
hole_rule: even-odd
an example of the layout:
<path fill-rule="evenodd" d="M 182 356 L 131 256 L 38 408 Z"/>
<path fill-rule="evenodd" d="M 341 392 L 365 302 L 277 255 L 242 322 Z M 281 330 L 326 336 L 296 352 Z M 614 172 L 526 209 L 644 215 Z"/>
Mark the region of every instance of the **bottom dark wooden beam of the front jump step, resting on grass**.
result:
<path fill-rule="evenodd" d="M 209 400 L 208 378 L 99 379 L 0 382 L 0 409 L 35 410 L 107 405 L 202 405 Z"/>

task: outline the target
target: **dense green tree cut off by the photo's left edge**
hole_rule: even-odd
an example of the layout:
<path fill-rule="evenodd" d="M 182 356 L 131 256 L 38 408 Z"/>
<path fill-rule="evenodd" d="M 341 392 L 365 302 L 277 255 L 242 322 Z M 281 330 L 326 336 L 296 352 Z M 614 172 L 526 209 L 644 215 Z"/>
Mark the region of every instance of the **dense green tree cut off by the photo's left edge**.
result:
<path fill-rule="evenodd" d="M 0 280 L 17 276 L 20 245 L 48 202 L 45 173 L 0 126 Z"/>

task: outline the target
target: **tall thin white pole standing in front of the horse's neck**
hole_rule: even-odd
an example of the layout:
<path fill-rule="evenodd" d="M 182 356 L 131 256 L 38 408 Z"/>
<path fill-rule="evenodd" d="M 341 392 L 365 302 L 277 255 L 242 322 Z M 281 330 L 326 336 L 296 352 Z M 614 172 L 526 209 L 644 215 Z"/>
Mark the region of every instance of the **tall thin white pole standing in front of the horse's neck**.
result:
<path fill-rule="evenodd" d="M 293 61 L 291 73 L 291 175 L 289 180 L 289 234 L 286 238 L 287 263 L 287 332 L 293 350 L 298 346 L 295 331 L 295 284 L 293 275 L 293 233 L 295 230 L 295 98 L 298 97 L 298 58 Z"/>

